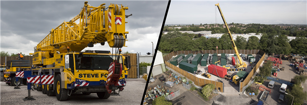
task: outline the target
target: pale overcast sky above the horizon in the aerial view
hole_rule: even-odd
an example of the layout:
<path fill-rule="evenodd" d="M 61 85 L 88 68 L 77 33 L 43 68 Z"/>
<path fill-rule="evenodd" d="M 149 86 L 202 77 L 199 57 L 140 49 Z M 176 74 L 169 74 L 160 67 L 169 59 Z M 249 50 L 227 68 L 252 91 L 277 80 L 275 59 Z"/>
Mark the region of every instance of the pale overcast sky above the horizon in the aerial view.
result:
<path fill-rule="evenodd" d="M 307 24 L 306 1 L 171 1 L 165 24 L 215 23 L 217 3 L 227 23 Z"/>

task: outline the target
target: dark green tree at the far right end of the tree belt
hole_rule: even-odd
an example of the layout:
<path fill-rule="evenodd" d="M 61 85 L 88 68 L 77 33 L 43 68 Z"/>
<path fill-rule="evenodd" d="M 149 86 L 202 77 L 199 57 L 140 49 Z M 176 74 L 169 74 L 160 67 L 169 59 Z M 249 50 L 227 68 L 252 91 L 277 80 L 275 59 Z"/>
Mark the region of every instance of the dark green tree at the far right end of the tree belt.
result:
<path fill-rule="evenodd" d="M 307 55 L 307 38 L 298 36 L 290 41 L 290 45 L 294 54 Z"/>

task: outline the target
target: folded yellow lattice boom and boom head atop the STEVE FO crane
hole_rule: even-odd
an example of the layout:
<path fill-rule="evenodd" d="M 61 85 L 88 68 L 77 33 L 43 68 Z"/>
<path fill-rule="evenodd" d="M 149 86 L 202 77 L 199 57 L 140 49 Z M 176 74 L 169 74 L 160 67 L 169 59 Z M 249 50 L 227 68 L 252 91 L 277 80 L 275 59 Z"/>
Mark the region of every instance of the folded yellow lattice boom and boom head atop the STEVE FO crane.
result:
<path fill-rule="evenodd" d="M 128 34 L 125 32 L 125 10 L 128 10 L 128 7 L 111 4 L 105 8 L 104 5 L 93 7 L 85 2 L 77 16 L 52 29 L 37 44 L 36 50 L 67 52 L 67 47 L 70 47 L 70 51 L 81 51 L 87 46 L 93 47 L 96 43 L 104 45 L 105 42 L 109 47 L 125 46 Z"/>

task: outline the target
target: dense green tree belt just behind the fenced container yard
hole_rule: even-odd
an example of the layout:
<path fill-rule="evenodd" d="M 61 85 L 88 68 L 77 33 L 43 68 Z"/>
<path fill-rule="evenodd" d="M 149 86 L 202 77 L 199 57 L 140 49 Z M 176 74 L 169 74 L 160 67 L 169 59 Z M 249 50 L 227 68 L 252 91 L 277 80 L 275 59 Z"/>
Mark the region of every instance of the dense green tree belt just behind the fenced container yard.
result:
<path fill-rule="evenodd" d="M 286 35 L 275 35 L 264 33 L 261 38 L 251 36 L 246 38 L 238 36 L 234 41 L 237 49 L 261 49 L 267 54 L 303 54 L 307 55 L 307 38 L 297 36 L 289 41 Z M 222 35 L 220 39 L 198 37 L 198 35 L 174 31 L 161 36 L 158 50 L 170 53 L 177 50 L 215 50 L 233 49 L 228 34 Z"/>

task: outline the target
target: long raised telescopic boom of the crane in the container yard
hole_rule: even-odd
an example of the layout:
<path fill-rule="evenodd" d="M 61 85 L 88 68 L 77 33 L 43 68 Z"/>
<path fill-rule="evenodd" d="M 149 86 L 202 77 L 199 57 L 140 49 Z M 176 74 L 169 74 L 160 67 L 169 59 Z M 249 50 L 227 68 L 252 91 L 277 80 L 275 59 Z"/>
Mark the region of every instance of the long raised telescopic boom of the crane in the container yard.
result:
<path fill-rule="evenodd" d="M 237 59 L 239 60 L 239 63 L 240 63 L 240 64 L 238 65 L 238 67 L 239 67 L 239 66 L 244 66 L 244 67 L 246 67 L 247 65 L 246 65 L 245 63 L 242 62 L 242 59 L 241 59 L 241 57 L 240 57 L 240 55 L 239 55 L 239 52 L 238 52 L 238 49 L 237 49 L 237 47 L 235 46 L 235 43 L 234 43 L 234 40 L 233 40 L 233 38 L 232 38 L 232 36 L 231 36 L 231 33 L 230 33 L 230 31 L 229 31 L 227 22 L 226 22 L 226 20 L 225 20 L 225 18 L 224 18 L 224 15 L 223 15 L 223 13 L 222 13 L 221 8 L 220 8 L 220 4 L 215 4 L 215 6 L 217 6 L 218 11 L 220 11 L 220 14 L 221 14 L 221 16 L 222 16 L 222 19 L 223 19 L 224 24 L 225 24 L 225 27 L 226 27 L 226 29 L 227 29 L 228 35 L 229 35 L 230 40 L 231 40 L 231 45 L 232 45 L 233 49 L 235 50 L 235 54 L 236 54 L 236 56 L 237 56 Z"/>

